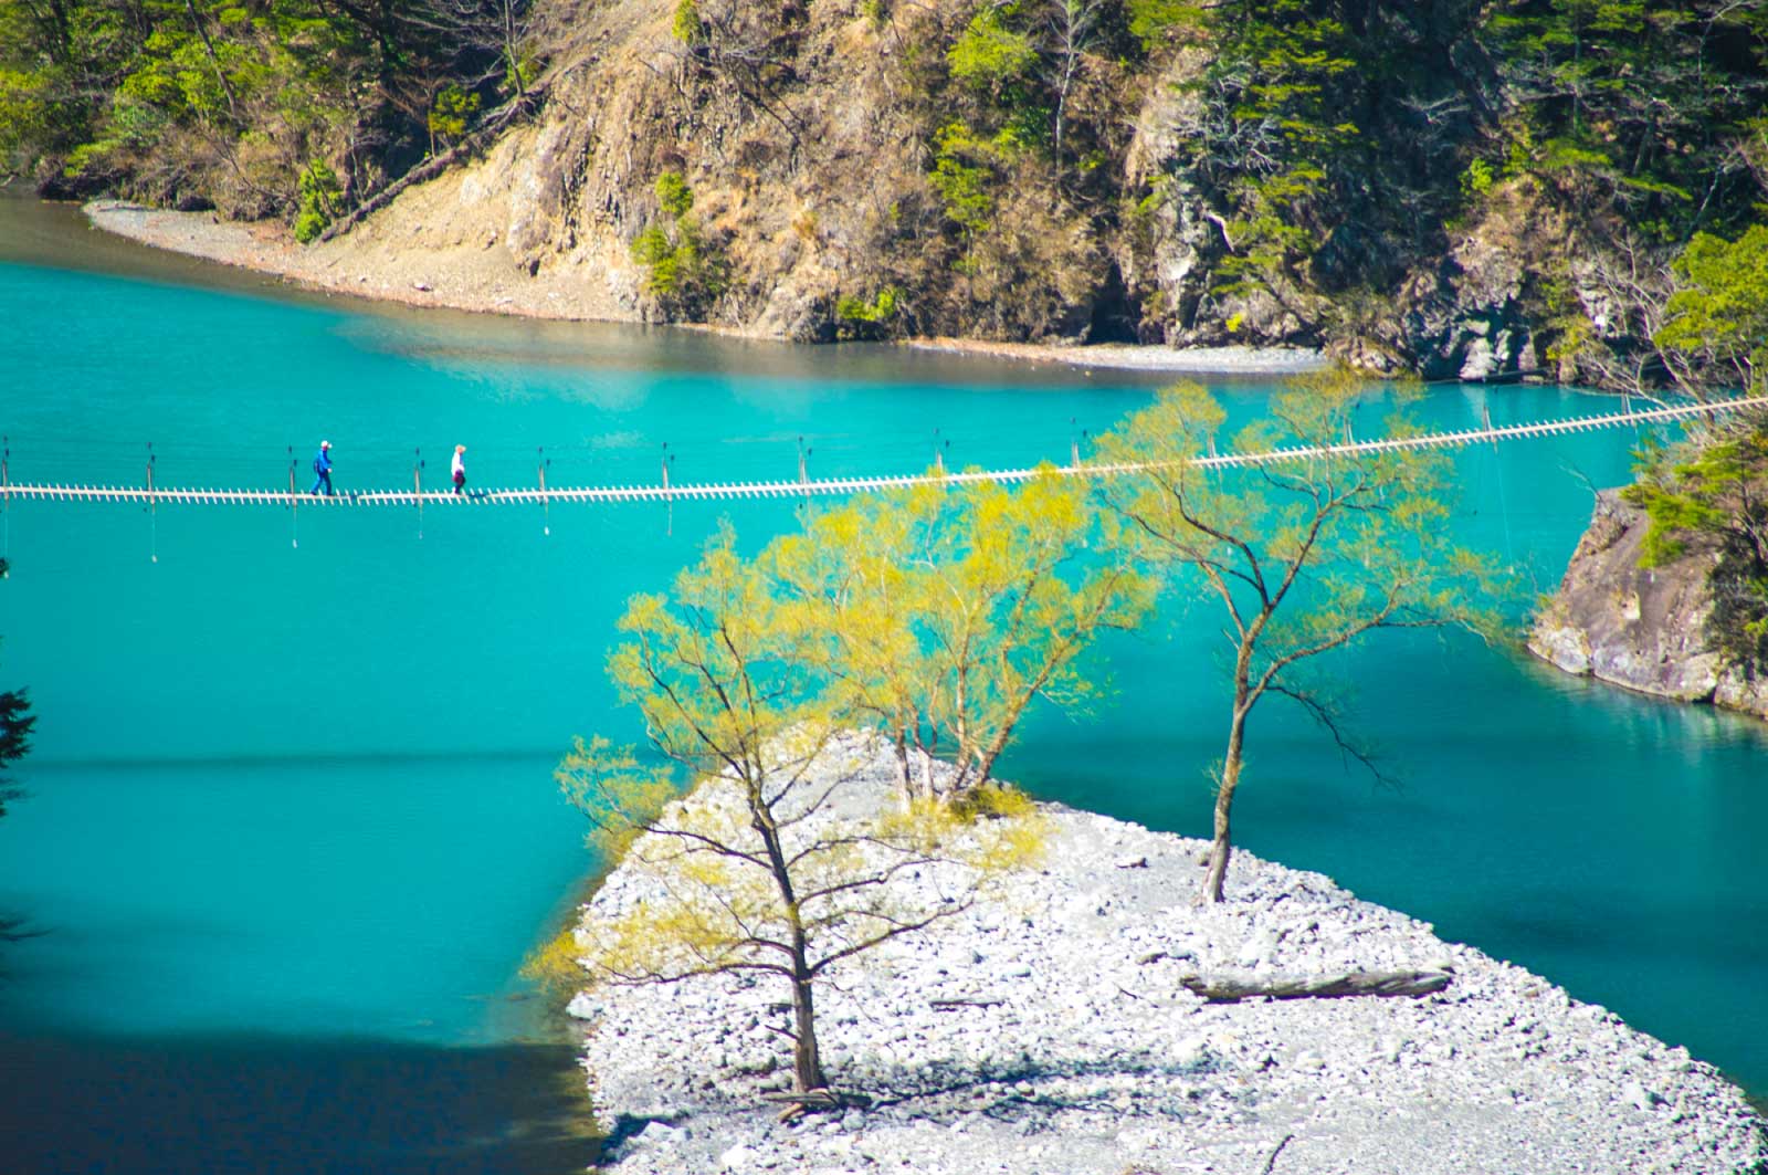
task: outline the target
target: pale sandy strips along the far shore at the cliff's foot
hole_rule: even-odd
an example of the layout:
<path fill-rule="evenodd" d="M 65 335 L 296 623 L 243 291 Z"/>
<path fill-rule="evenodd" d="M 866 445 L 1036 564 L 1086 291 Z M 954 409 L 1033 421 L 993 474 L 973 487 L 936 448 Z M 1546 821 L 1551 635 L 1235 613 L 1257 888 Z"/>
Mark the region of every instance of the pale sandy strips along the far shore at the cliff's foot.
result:
<path fill-rule="evenodd" d="M 212 212 L 168 212 L 120 200 L 94 200 L 87 219 L 118 237 L 221 265 L 272 274 L 306 288 L 352 297 L 474 313 L 559 320 L 610 317 L 606 299 L 562 274 L 529 276 L 497 246 L 497 234 L 456 250 L 401 250 L 375 235 L 373 218 L 347 237 L 301 246 L 279 223 L 226 221 Z M 700 327 L 705 329 L 705 327 Z M 713 327 L 714 333 L 721 331 Z M 1054 347 L 969 338 L 918 338 L 903 347 L 988 356 L 1020 363 L 1055 363 L 1100 370 L 1192 375 L 1280 377 L 1321 366 L 1319 352 L 1292 347 Z"/>

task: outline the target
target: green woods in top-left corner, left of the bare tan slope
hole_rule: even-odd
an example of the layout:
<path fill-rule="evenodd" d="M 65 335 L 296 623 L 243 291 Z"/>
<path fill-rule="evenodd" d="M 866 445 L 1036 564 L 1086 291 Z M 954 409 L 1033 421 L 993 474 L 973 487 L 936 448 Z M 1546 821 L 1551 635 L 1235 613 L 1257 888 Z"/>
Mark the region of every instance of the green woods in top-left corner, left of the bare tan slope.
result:
<path fill-rule="evenodd" d="M 523 19 L 516 0 L 0 0 L 0 159 L 44 195 L 329 218 L 532 80 Z"/>

